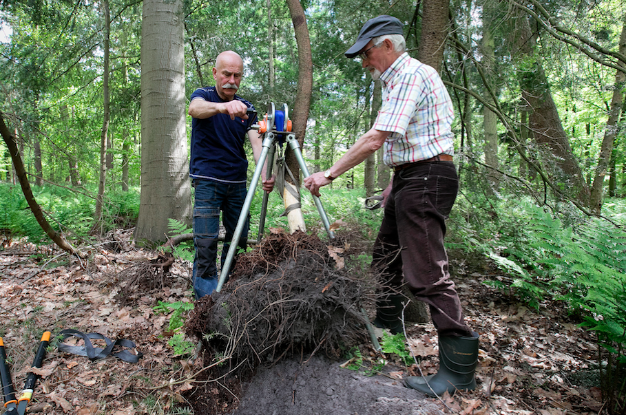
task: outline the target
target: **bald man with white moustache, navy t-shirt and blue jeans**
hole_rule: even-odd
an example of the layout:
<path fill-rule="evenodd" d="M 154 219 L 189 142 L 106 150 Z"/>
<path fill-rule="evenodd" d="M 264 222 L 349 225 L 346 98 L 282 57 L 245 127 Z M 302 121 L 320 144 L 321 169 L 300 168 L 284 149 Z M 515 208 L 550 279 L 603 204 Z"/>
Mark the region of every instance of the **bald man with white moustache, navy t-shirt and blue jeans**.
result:
<path fill-rule="evenodd" d="M 252 129 L 257 117 L 248 116 L 253 105 L 236 94 L 243 77 L 241 56 L 222 52 L 213 67 L 215 86 L 199 88 L 191 94 L 191 157 L 189 175 L 196 189 L 194 202 L 194 272 L 192 281 L 196 299 L 210 295 L 218 286 L 216 265 L 220 212 L 226 228 L 222 246 L 222 264 L 237 226 L 246 198 L 248 160 L 244 151 L 246 137 L 258 161 L 262 139 Z M 264 191 L 273 189 L 274 178 L 266 178 L 262 169 Z M 249 221 L 239 245 L 245 248 Z"/>

